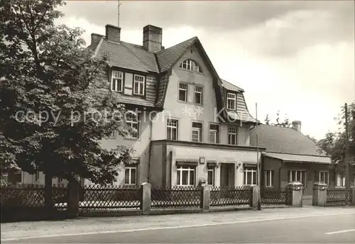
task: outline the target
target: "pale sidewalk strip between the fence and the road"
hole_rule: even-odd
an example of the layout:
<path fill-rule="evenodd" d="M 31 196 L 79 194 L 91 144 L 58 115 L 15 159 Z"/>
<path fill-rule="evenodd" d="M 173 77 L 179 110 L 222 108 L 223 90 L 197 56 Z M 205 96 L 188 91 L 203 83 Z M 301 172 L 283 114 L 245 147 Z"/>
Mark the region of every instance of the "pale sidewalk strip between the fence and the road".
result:
<path fill-rule="evenodd" d="M 76 218 L 65 221 L 1 223 L 1 240 L 43 235 L 77 235 L 80 233 L 119 232 L 146 228 L 209 225 L 239 221 L 261 221 L 275 218 L 301 218 L 324 214 L 355 214 L 354 207 L 313 207 L 230 211 L 205 214 L 172 214 L 160 216 L 121 216 Z"/>

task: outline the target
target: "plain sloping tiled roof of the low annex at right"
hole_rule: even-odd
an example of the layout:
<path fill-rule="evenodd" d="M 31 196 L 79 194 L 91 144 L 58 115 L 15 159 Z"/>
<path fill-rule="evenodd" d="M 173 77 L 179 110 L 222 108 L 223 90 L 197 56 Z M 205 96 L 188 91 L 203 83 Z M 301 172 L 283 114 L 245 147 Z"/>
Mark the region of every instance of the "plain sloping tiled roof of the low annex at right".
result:
<path fill-rule="evenodd" d="M 253 128 L 250 134 L 252 146 L 256 146 L 256 130 L 258 146 L 266 148 L 266 153 L 324 156 L 318 152 L 315 143 L 300 131 L 278 126 L 260 125 Z"/>

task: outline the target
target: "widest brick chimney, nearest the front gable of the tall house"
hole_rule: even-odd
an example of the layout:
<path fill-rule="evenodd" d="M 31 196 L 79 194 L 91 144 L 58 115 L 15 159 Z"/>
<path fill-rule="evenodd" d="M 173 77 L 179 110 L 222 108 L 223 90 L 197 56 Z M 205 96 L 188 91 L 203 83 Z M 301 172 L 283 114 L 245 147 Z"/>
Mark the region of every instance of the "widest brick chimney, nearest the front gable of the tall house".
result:
<path fill-rule="evenodd" d="M 163 30 L 156 26 L 144 26 L 143 28 L 143 48 L 149 52 L 159 52 L 162 50 Z"/>

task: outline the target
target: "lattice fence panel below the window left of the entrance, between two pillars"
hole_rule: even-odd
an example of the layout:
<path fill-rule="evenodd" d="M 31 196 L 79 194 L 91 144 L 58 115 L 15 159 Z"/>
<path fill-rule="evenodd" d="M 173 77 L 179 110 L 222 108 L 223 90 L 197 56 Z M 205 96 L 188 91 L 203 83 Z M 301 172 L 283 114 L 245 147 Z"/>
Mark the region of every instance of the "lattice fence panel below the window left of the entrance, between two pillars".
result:
<path fill-rule="evenodd" d="M 201 187 L 153 187 L 151 189 L 152 209 L 200 208 Z"/>

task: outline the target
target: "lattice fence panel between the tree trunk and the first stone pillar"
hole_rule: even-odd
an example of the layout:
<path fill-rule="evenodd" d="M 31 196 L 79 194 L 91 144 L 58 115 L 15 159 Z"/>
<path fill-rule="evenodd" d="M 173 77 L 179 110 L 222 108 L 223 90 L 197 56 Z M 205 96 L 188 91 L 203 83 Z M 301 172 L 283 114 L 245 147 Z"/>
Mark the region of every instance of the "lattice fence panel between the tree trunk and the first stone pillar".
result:
<path fill-rule="evenodd" d="M 141 208 L 141 187 L 87 185 L 80 192 L 79 210 L 120 211 Z"/>

